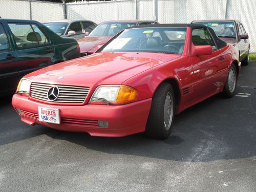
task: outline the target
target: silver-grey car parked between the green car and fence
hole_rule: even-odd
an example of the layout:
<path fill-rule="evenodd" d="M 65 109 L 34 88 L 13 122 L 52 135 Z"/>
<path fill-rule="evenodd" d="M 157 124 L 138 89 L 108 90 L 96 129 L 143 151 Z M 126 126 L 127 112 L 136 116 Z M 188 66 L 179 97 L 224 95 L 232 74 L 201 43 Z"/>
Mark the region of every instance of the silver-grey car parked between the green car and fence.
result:
<path fill-rule="evenodd" d="M 84 37 L 84 34 L 91 33 L 97 27 L 97 24 L 91 20 L 81 19 L 63 19 L 43 24 L 59 36 L 74 37 L 75 39 Z"/>

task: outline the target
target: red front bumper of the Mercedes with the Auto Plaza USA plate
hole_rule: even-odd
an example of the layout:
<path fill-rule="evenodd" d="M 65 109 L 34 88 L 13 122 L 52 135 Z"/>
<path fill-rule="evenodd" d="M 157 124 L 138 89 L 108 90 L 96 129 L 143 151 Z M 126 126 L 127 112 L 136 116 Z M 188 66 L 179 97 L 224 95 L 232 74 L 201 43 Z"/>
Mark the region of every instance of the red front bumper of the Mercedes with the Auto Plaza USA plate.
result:
<path fill-rule="evenodd" d="M 61 131 L 87 132 L 91 136 L 122 137 L 145 131 L 152 98 L 124 105 L 50 105 L 29 99 L 19 94 L 13 95 L 14 109 L 20 109 L 22 121 L 41 124 Z M 58 109 L 60 124 L 38 120 L 38 107 Z M 108 127 L 99 127 L 98 121 L 108 121 Z"/>

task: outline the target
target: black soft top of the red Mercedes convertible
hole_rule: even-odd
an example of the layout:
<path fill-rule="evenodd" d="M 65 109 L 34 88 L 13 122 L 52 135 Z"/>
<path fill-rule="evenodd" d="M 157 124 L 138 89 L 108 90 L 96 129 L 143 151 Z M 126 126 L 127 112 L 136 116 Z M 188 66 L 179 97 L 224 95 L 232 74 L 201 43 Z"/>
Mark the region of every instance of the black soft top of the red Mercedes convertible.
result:
<path fill-rule="evenodd" d="M 140 25 L 140 26 L 134 26 L 134 27 L 129 27 L 126 29 L 134 29 L 134 28 L 156 28 L 156 27 L 180 27 L 180 28 L 186 28 L 186 27 L 190 27 L 192 29 L 201 29 L 201 28 L 207 28 L 210 33 L 212 38 L 214 38 L 214 41 L 216 42 L 216 46 L 218 49 L 226 46 L 226 42 L 224 42 L 223 40 L 221 40 L 214 32 L 213 29 L 211 29 L 210 27 L 207 27 L 205 25 L 201 25 L 201 24 L 155 24 L 155 25 Z"/>

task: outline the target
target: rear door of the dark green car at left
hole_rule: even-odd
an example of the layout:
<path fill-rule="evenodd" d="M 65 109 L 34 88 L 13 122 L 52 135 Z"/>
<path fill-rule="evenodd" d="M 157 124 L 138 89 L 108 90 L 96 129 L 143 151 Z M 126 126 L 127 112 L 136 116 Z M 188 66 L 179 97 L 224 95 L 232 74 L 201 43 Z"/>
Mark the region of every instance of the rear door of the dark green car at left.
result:
<path fill-rule="evenodd" d="M 16 50 L 19 75 L 24 76 L 52 64 L 53 42 L 33 23 L 9 23 Z"/>

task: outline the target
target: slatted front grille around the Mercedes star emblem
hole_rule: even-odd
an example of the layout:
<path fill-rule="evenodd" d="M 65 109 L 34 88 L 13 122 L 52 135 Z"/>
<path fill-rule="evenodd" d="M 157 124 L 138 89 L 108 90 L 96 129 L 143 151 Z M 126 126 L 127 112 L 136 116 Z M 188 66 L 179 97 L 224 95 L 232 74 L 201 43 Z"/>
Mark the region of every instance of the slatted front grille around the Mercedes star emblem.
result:
<path fill-rule="evenodd" d="M 58 84 L 47 84 L 32 82 L 30 87 L 30 96 L 36 99 L 50 101 L 47 98 L 48 90 L 56 86 L 59 89 L 59 95 L 56 100 L 52 102 L 63 102 L 63 103 L 82 103 L 90 90 L 89 87 L 78 87 L 78 86 L 63 86 Z"/>

